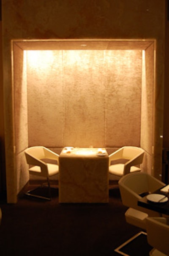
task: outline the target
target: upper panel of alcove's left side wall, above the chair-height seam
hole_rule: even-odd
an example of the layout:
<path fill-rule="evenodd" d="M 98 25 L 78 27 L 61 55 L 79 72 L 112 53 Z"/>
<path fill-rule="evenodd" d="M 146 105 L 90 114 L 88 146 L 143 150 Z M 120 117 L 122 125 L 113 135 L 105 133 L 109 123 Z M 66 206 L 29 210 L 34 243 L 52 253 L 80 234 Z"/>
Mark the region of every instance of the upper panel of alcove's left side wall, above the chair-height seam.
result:
<path fill-rule="evenodd" d="M 14 122 L 16 154 L 28 146 L 27 81 L 24 51 L 14 45 Z"/>

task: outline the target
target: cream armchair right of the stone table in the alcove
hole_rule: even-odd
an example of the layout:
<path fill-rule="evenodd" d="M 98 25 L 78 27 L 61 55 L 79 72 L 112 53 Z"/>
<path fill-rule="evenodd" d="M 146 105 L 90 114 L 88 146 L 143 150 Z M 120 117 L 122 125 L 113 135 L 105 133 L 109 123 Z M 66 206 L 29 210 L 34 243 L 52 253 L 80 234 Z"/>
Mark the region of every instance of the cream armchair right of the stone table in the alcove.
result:
<path fill-rule="evenodd" d="M 109 155 L 109 173 L 122 177 L 130 172 L 140 172 L 139 166 L 144 158 L 144 150 L 135 146 L 123 146 Z M 112 164 L 112 161 L 118 163 Z M 125 163 L 124 163 L 125 160 Z"/>

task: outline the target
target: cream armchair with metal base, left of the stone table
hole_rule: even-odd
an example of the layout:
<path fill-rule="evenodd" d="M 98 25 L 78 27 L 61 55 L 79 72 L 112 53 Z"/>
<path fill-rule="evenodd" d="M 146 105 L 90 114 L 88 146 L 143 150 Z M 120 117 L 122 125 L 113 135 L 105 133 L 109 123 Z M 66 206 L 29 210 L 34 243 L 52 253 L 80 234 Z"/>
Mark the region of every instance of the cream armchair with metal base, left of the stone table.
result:
<path fill-rule="evenodd" d="M 27 163 L 30 165 L 30 174 L 46 177 L 49 186 L 49 199 L 51 199 L 49 177 L 59 172 L 59 155 L 44 146 L 33 146 L 25 149 L 25 157 Z M 55 161 L 55 163 L 51 163 L 51 161 Z M 36 196 L 30 194 L 30 191 L 26 194 Z"/>

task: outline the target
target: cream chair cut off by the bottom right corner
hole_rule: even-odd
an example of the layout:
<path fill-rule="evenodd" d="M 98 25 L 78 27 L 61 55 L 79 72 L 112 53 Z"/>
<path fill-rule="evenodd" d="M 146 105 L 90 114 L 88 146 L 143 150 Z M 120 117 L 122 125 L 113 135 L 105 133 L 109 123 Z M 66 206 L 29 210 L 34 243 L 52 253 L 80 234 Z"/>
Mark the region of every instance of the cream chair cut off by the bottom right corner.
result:
<path fill-rule="evenodd" d="M 150 256 L 169 256 L 169 219 L 148 217 L 146 227 L 147 241 L 154 247 Z"/>

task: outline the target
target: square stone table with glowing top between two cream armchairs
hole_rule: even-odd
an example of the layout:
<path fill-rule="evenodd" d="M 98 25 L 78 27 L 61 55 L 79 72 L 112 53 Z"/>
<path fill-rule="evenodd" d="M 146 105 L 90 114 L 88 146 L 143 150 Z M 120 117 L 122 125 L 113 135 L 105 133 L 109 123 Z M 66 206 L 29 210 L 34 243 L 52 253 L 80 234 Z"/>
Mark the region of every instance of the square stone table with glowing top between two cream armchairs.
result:
<path fill-rule="evenodd" d="M 59 203 L 108 203 L 106 149 L 64 148 L 59 156 Z"/>

